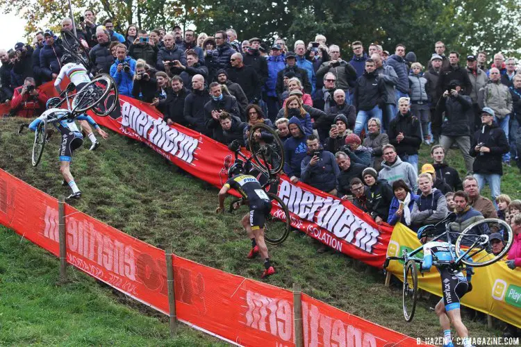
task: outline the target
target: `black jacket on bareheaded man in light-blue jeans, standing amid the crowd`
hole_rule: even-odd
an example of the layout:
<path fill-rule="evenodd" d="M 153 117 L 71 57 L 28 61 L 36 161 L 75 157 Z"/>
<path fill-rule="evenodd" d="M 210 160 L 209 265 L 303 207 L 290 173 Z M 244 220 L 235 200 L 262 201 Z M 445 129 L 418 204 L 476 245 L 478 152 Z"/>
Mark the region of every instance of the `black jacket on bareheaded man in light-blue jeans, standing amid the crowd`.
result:
<path fill-rule="evenodd" d="M 386 86 L 376 71 L 365 71 L 356 80 L 353 98 L 356 110 L 370 111 L 375 106 L 386 103 L 386 96 Z"/>

